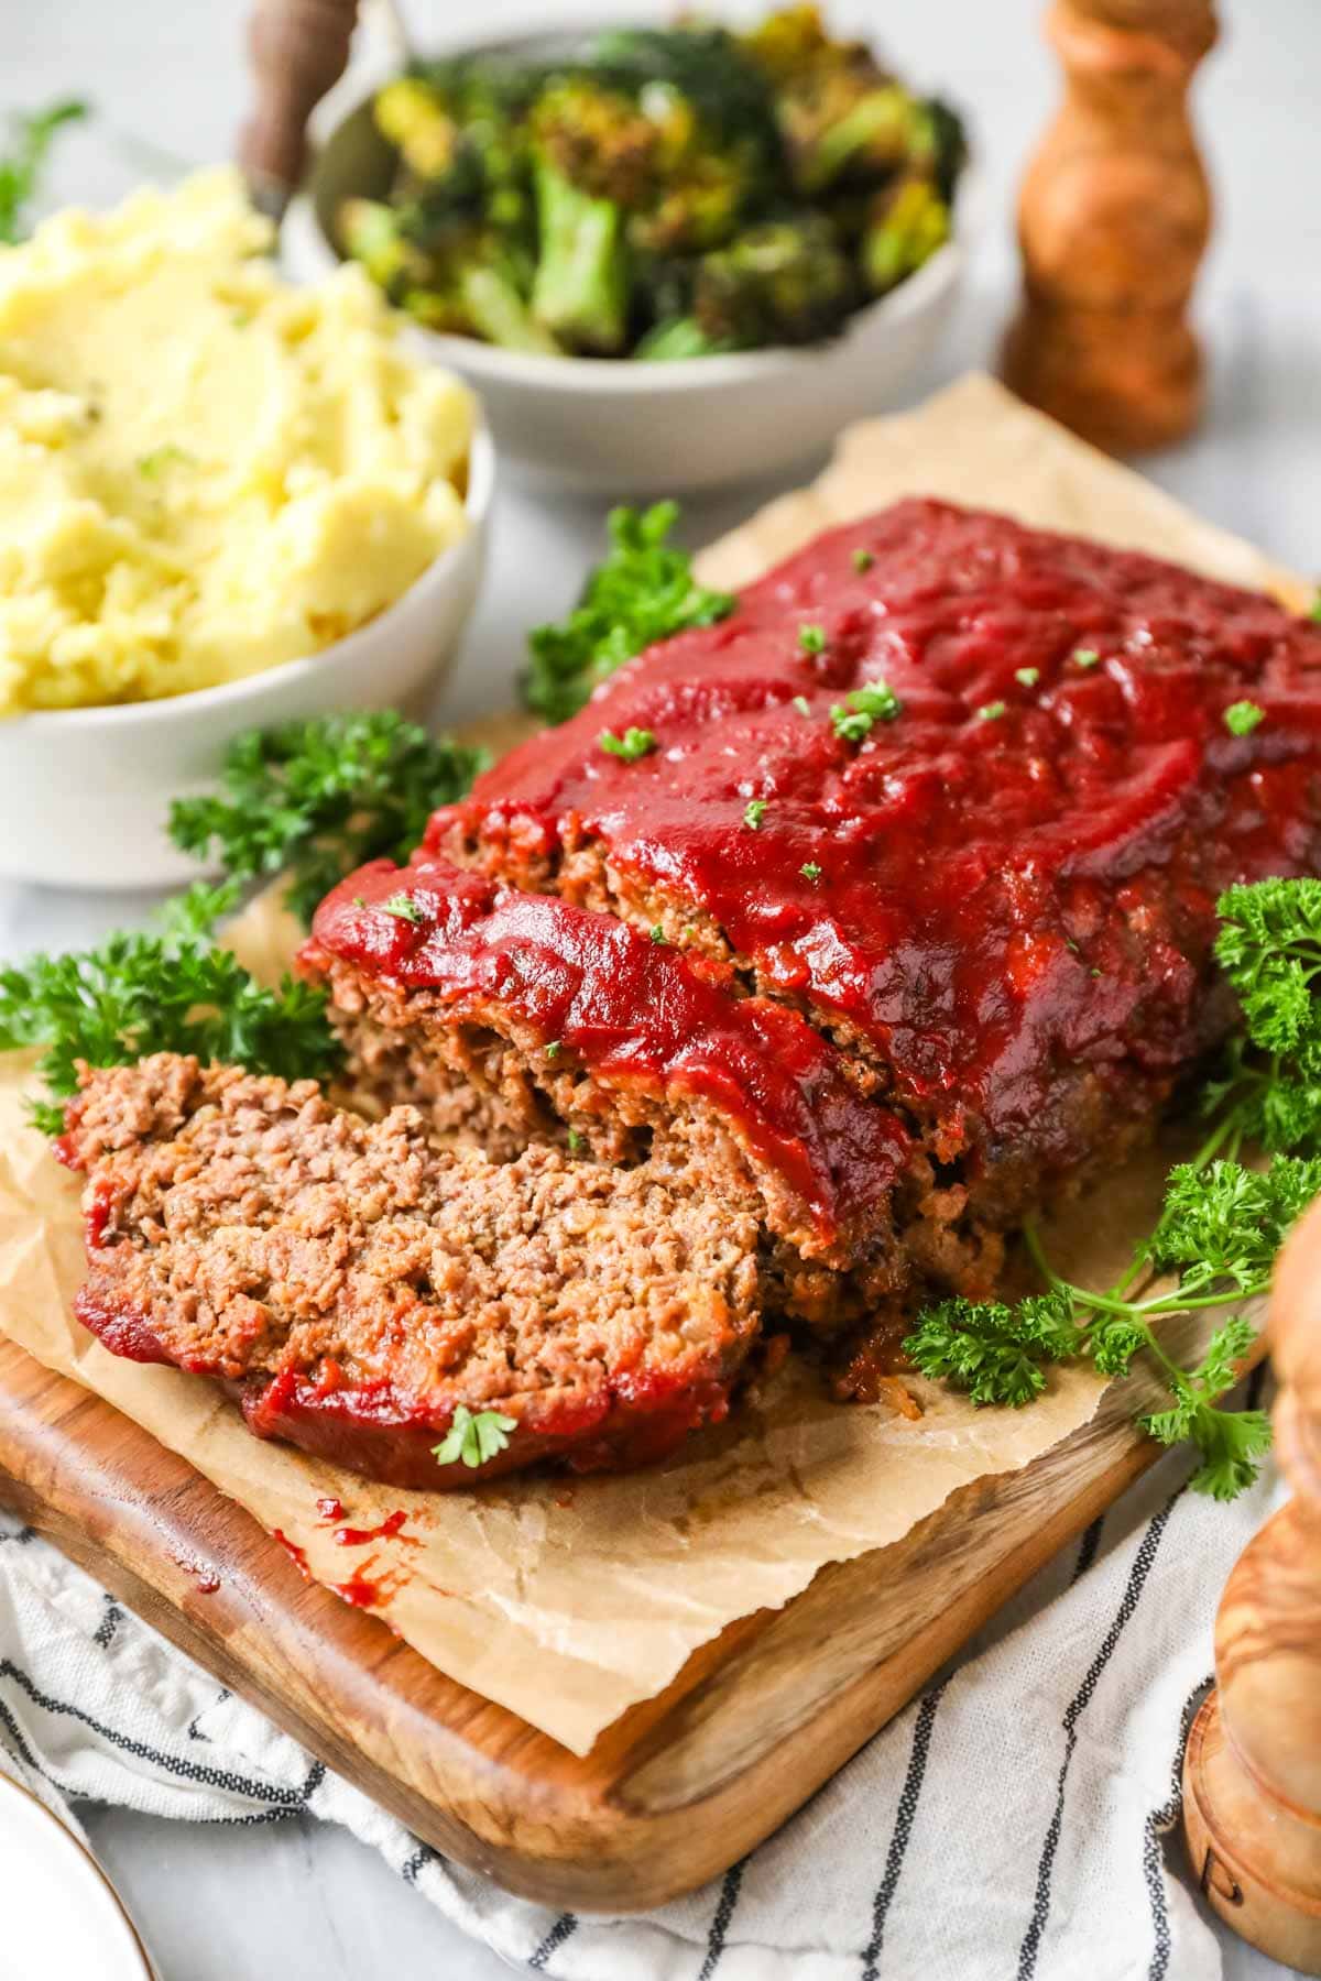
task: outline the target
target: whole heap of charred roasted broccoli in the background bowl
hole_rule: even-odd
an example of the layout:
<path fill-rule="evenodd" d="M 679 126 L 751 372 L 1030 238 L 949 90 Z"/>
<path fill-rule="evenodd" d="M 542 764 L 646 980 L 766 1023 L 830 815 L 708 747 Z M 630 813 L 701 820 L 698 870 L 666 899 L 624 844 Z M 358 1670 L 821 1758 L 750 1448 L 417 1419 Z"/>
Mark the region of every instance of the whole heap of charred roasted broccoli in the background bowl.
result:
<path fill-rule="evenodd" d="M 830 337 L 941 246 L 965 164 L 955 113 L 814 6 L 416 65 L 374 115 L 394 180 L 345 252 L 422 323 L 549 355 Z"/>

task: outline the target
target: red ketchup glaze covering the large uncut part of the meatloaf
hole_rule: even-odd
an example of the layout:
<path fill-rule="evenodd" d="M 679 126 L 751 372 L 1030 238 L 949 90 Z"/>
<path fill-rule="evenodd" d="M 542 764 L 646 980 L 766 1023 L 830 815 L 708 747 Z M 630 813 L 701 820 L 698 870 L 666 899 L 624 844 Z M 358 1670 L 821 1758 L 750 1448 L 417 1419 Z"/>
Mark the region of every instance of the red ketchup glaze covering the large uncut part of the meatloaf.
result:
<path fill-rule="evenodd" d="M 832 707 L 877 678 L 903 713 L 840 739 Z M 1240 699 L 1266 711 L 1248 737 L 1224 725 Z M 598 747 L 630 727 L 658 747 Z M 602 840 L 780 992 L 871 1036 L 901 1094 L 1004 1133 L 1038 1119 L 1052 1066 L 1161 1074 L 1206 1044 L 1214 897 L 1321 868 L 1319 755 L 1321 628 L 1151 557 L 907 501 L 632 662 L 428 844 L 456 822 L 533 856 Z"/>

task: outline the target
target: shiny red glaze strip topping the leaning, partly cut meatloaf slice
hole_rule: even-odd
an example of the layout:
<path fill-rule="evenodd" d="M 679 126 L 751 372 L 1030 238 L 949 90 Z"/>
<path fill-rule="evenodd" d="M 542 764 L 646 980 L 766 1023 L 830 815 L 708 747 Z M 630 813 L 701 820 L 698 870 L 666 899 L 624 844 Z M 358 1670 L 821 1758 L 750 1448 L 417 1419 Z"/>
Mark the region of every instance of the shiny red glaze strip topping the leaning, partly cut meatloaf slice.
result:
<path fill-rule="evenodd" d="M 382 913 L 400 893 L 416 919 Z M 440 990 L 457 1014 L 509 1006 L 606 1086 L 713 1101 L 826 1238 L 883 1199 L 903 1169 L 899 1121 L 854 1092 L 834 1046 L 798 1012 L 731 994 L 719 967 L 612 915 L 501 889 L 418 854 L 402 870 L 376 860 L 327 895 L 305 959 L 317 967 L 327 955 Z"/>

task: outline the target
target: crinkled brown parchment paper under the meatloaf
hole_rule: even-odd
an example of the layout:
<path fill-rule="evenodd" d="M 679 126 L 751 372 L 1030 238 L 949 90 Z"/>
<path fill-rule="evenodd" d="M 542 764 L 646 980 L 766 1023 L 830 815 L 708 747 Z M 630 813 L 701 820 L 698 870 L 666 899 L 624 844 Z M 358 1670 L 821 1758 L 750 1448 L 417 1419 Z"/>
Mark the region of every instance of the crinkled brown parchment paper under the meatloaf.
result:
<path fill-rule="evenodd" d="M 812 489 L 715 545 L 703 574 L 745 582 L 830 521 L 903 493 L 1006 509 L 1305 598 L 1250 545 L 984 378 L 850 430 Z M 291 927 L 265 897 L 232 937 L 269 975 L 287 957 Z M 376 1579 L 388 1591 L 382 1615 L 410 1644 L 574 1753 L 663 1690 L 727 1622 L 786 1603 L 828 1561 L 899 1539 L 955 1488 L 1026 1464 L 1083 1424 L 1103 1389 L 1066 1369 L 1032 1408 L 972 1410 L 913 1379 L 923 1416 L 911 1422 L 887 1405 L 832 1405 L 820 1379 L 790 1363 L 729 1424 L 650 1472 L 509 1480 L 469 1494 L 370 1486 L 259 1444 L 208 1383 L 121 1361 L 71 1319 L 83 1266 L 77 1187 L 26 1127 L 30 1088 L 28 1056 L 0 1060 L 0 1331 L 184 1454 L 267 1531 L 279 1527 L 319 1581 Z M 1163 1169 L 1159 1157 L 1125 1167 L 1058 1226 L 1052 1252 L 1091 1284 L 1117 1278 L 1159 1202 Z M 339 1498 L 355 1527 L 404 1508 L 404 1535 L 339 1547 L 339 1521 L 317 1513 L 323 1496 Z M 224 1563 L 216 1569 L 224 1575 Z"/>

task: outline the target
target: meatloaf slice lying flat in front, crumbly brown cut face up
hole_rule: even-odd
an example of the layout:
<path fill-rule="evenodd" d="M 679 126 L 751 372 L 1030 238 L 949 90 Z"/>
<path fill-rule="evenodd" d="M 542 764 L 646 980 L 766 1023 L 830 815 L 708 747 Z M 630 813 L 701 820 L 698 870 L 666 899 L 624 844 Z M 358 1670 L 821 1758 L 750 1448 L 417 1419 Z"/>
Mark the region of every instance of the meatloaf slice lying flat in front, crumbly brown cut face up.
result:
<path fill-rule="evenodd" d="M 719 1420 L 759 1329 L 759 1226 L 703 1179 L 533 1147 L 495 1165 L 422 1115 L 366 1121 L 160 1054 L 83 1072 L 79 1319 L 220 1381 L 259 1436 L 396 1486 L 471 1484 L 456 1410 L 515 1420 L 481 1478 L 632 1466 Z"/>

